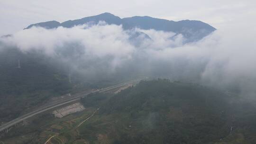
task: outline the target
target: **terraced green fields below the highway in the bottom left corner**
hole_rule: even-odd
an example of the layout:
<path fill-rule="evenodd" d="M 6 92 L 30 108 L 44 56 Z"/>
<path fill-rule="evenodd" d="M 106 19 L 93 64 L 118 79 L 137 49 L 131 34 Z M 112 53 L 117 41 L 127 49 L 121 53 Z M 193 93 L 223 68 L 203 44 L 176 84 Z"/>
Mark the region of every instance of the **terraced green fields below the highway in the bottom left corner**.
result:
<path fill-rule="evenodd" d="M 18 125 L 15 130 L 11 129 L 9 133 L 4 134 L 0 139 L 4 144 L 44 144 L 49 137 L 58 134 L 52 141 L 75 141 L 75 138 L 77 138 L 75 126 L 89 117 L 93 111 L 95 109 L 87 108 L 83 112 L 63 118 L 55 118 L 52 114 L 41 114 L 30 118 L 27 121 L 27 125 Z"/>

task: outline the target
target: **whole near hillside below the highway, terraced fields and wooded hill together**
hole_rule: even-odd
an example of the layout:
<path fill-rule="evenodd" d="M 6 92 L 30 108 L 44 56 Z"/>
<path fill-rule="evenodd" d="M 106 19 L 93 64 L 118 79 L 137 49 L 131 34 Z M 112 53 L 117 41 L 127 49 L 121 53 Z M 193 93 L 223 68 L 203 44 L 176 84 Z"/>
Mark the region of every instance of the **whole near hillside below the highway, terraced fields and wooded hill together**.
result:
<path fill-rule="evenodd" d="M 113 91 L 112 91 L 113 92 Z M 44 113 L 5 134 L 12 144 L 256 144 L 256 107 L 238 94 L 193 83 L 140 81 L 91 93 L 84 111 Z"/>

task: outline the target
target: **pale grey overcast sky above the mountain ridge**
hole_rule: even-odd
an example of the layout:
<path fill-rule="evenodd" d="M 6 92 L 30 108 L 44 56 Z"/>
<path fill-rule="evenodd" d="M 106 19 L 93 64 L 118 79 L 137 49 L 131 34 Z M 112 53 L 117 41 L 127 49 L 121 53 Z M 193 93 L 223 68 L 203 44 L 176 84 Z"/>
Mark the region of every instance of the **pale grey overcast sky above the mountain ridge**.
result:
<path fill-rule="evenodd" d="M 13 34 L 33 23 L 63 22 L 103 12 L 120 18 L 201 20 L 217 29 L 255 29 L 256 24 L 256 0 L 0 0 L 0 35 Z"/>

